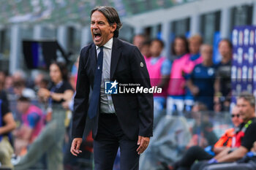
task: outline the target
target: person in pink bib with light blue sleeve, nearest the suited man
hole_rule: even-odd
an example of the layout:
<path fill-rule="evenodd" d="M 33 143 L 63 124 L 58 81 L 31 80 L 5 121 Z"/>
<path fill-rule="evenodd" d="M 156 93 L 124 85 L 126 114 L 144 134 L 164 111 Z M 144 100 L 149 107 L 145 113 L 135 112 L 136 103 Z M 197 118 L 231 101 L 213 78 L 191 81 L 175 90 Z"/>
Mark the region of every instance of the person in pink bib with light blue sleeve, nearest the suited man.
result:
<path fill-rule="evenodd" d="M 154 93 L 154 118 L 159 117 L 159 113 L 164 109 L 167 85 L 170 77 L 171 63 L 170 61 L 161 56 L 164 48 L 164 42 L 160 39 L 151 41 L 150 52 L 151 58 L 147 63 L 148 74 L 151 80 L 151 86 L 162 88 L 162 93 Z"/>

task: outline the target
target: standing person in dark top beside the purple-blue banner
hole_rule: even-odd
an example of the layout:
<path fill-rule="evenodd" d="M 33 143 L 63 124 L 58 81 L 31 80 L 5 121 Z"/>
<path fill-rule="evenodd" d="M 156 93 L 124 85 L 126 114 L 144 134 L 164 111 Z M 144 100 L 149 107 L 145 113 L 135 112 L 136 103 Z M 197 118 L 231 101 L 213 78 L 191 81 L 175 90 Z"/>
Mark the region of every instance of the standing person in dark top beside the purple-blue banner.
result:
<path fill-rule="evenodd" d="M 228 39 L 219 42 L 221 61 L 217 64 L 215 81 L 215 111 L 228 111 L 231 97 L 232 43 Z M 220 107 L 217 107 L 220 105 Z M 217 109 L 219 108 L 219 109 Z"/>

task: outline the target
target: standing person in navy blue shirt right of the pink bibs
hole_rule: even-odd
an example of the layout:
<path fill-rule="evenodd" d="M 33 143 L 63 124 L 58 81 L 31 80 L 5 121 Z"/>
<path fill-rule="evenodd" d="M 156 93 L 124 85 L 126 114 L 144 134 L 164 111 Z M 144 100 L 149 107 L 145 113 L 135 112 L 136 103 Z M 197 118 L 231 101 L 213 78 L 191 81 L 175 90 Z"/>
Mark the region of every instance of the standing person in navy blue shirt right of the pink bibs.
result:
<path fill-rule="evenodd" d="M 213 110 L 215 66 L 212 61 L 213 50 L 211 45 L 202 45 L 200 53 L 203 62 L 197 64 L 192 73 L 189 74 L 187 87 L 194 96 L 195 101 L 200 101 L 206 104 L 209 110 Z"/>

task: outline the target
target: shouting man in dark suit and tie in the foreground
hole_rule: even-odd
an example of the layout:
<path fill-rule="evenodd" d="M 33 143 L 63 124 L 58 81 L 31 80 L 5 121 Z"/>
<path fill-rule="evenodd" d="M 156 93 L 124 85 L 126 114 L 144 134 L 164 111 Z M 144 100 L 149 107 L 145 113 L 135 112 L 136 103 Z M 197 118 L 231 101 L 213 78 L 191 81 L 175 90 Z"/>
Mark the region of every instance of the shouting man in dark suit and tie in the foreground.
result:
<path fill-rule="evenodd" d="M 140 88 L 151 88 L 143 56 L 137 47 L 117 38 L 120 28 L 116 9 L 92 9 L 94 43 L 80 52 L 70 151 L 73 155 L 81 152 L 79 147 L 89 115 L 94 121 L 96 170 L 113 169 L 118 147 L 121 150 L 121 169 L 138 169 L 140 154 L 148 147 L 153 134 L 152 93 L 105 93 L 105 82 L 108 81 L 112 81 L 111 88 L 116 87 L 117 82 L 119 85 L 132 83 Z"/>

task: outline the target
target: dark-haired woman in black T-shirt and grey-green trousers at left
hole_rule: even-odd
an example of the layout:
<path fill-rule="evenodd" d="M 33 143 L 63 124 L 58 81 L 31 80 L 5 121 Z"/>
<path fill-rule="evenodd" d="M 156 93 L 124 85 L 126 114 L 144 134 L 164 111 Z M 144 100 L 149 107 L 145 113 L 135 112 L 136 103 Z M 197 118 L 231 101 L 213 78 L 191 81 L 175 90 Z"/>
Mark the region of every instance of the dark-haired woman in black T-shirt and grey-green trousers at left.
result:
<path fill-rule="evenodd" d="M 38 96 L 48 103 L 48 123 L 43 128 L 37 139 L 30 145 L 28 152 L 18 164 L 15 170 L 26 170 L 33 166 L 42 155 L 46 154 L 48 170 L 63 169 L 63 142 L 64 120 L 66 110 L 61 103 L 72 98 L 73 90 L 67 82 L 67 67 L 64 63 L 54 62 L 50 64 L 51 84 L 48 89 L 41 88 Z"/>

